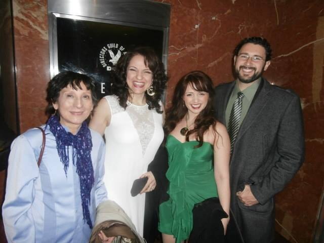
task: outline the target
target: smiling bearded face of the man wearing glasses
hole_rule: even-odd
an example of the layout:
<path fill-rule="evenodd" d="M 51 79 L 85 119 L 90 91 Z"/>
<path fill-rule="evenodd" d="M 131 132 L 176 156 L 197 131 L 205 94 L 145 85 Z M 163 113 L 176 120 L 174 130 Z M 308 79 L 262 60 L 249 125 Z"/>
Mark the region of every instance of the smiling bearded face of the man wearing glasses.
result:
<path fill-rule="evenodd" d="M 266 52 L 262 46 L 252 43 L 242 46 L 237 56 L 234 56 L 236 78 L 245 84 L 257 80 L 270 65 L 270 61 L 265 61 L 265 58 Z"/>

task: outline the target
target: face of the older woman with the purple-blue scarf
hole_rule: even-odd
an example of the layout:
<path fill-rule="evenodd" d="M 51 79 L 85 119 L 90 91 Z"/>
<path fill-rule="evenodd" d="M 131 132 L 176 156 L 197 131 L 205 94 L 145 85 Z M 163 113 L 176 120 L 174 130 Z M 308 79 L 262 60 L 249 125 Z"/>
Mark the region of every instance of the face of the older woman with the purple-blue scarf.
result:
<path fill-rule="evenodd" d="M 53 107 L 60 114 L 60 123 L 66 126 L 72 134 L 85 121 L 93 109 L 91 91 L 87 90 L 84 83 L 80 83 L 82 89 L 74 90 L 70 85 L 60 91 L 60 95 Z"/>

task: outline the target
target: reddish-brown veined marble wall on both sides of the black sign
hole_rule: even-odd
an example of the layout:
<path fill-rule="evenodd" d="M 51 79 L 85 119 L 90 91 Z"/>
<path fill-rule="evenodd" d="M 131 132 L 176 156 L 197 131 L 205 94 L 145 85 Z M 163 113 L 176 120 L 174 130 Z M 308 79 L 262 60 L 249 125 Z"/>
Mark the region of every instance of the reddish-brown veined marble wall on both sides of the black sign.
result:
<path fill-rule="evenodd" d="M 265 77 L 301 97 L 306 159 L 277 196 L 276 227 L 291 242 L 310 242 L 323 192 L 324 2 L 322 0 L 166 0 L 171 4 L 167 103 L 177 80 L 199 69 L 215 85 L 229 82 L 232 51 L 244 37 L 272 44 Z M 46 0 L 13 0 L 21 132 L 44 123 L 49 74 Z"/>

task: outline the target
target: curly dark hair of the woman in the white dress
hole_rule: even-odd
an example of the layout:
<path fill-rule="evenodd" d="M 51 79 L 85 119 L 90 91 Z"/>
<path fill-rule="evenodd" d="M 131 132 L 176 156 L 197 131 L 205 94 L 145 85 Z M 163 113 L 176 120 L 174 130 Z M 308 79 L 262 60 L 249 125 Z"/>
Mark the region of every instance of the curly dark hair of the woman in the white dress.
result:
<path fill-rule="evenodd" d="M 130 96 L 128 86 L 127 86 L 127 68 L 131 59 L 136 56 L 141 55 L 144 57 L 145 65 L 153 73 L 153 96 L 149 96 L 145 92 L 146 103 L 148 104 L 148 109 L 155 109 L 158 113 L 163 113 L 159 101 L 166 88 L 166 83 L 168 77 L 163 65 L 163 62 L 157 57 L 154 50 L 150 47 L 138 47 L 133 51 L 127 52 L 123 57 L 119 58 L 115 69 L 114 78 L 112 80 L 111 92 L 116 95 L 119 99 L 119 105 L 126 109 L 127 99 Z"/>

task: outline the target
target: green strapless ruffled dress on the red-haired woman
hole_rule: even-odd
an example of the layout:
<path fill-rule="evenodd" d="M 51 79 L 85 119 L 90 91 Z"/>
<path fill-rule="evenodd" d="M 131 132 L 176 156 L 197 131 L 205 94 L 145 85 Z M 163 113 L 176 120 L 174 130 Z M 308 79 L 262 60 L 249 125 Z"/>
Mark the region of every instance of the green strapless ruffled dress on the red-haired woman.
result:
<path fill-rule="evenodd" d="M 218 196 L 214 177 L 214 149 L 210 143 L 194 148 L 197 141 L 181 143 L 172 135 L 167 138 L 170 199 L 159 207 L 158 229 L 172 234 L 176 243 L 189 238 L 192 209 L 196 203 Z"/>

